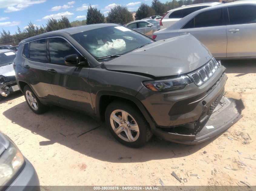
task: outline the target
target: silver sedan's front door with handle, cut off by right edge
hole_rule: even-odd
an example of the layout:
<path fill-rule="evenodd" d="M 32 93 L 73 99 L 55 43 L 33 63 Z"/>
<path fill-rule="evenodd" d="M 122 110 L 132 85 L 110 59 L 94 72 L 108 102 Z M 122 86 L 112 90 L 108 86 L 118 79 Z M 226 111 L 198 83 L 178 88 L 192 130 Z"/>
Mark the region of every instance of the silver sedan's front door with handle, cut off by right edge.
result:
<path fill-rule="evenodd" d="M 227 56 L 256 56 L 256 6 L 237 5 L 228 7 Z"/>

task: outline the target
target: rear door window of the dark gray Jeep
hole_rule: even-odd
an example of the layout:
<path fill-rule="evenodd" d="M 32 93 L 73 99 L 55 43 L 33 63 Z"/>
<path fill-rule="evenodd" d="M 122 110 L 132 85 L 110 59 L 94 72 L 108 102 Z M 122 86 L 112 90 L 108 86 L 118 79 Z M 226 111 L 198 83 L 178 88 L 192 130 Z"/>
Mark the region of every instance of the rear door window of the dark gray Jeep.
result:
<path fill-rule="evenodd" d="M 30 43 L 29 58 L 38 62 L 47 62 L 46 39 L 35 40 Z"/>

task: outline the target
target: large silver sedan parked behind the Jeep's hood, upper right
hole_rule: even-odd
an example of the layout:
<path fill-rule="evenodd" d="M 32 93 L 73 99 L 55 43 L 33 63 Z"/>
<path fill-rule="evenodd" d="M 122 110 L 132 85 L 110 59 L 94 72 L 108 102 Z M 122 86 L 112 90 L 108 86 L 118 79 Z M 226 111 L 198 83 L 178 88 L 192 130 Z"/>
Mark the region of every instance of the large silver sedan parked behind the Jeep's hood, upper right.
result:
<path fill-rule="evenodd" d="M 153 38 L 162 40 L 188 33 L 216 58 L 256 58 L 256 1 L 225 3 L 195 11 L 155 32 Z"/>

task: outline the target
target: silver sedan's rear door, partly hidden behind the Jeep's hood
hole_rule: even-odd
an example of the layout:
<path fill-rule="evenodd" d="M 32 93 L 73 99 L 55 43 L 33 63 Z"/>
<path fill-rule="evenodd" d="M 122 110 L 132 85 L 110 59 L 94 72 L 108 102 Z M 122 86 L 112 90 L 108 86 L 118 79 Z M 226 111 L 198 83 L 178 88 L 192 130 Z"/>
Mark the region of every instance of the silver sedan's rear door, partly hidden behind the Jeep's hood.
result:
<path fill-rule="evenodd" d="M 227 56 L 227 34 L 224 8 L 204 11 L 196 15 L 180 30 L 179 35 L 190 33 L 201 41 L 214 57 Z"/>

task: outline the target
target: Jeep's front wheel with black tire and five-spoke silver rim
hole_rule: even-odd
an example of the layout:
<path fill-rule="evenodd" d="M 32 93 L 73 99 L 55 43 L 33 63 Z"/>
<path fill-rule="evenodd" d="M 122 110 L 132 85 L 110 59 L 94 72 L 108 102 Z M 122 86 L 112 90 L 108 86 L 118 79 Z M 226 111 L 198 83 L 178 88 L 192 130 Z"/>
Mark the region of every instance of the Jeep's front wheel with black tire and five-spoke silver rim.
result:
<path fill-rule="evenodd" d="M 105 120 L 111 134 L 128 147 L 141 147 L 153 135 L 141 112 L 125 102 L 110 103 Z"/>

